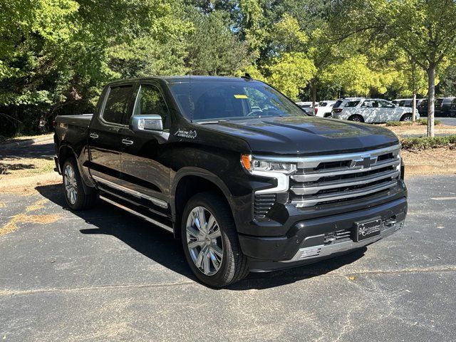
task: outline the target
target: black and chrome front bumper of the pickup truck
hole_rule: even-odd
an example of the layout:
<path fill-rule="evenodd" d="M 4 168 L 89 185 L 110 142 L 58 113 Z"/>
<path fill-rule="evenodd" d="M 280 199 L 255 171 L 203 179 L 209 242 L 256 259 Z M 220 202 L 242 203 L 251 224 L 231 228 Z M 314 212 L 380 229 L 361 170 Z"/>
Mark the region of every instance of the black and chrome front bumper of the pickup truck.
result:
<path fill-rule="evenodd" d="M 242 252 L 249 258 L 251 271 L 271 271 L 346 253 L 387 237 L 403 227 L 407 199 L 329 217 L 307 219 L 294 224 L 283 237 L 252 237 L 239 234 Z M 381 218 L 385 224 L 380 236 L 355 242 L 356 222 Z M 341 239 L 328 239 L 341 234 Z"/>

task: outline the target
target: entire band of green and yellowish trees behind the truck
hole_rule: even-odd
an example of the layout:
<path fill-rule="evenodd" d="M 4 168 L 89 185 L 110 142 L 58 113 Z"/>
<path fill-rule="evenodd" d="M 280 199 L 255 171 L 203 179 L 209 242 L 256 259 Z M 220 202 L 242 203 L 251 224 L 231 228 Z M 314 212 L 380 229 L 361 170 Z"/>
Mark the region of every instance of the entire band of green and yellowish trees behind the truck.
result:
<path fill-rule="evenodd" d="M 456 95 L 455 17 L 447 0 L 3 0 L 0 135 L 88 113 L 117 78 L 247 72 L 323 100 L 425 95 L 435 68 Z"/>

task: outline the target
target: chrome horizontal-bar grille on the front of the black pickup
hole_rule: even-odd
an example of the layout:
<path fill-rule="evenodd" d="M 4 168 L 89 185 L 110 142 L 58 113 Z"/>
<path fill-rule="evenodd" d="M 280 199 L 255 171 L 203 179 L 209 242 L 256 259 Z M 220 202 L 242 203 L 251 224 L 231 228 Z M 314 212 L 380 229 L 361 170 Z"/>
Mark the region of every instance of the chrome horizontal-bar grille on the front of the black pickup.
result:
<path fill-rule="evenodd" d="M 296 207 L 366 197 L 395 186 L 400 175 L 400 147 L 358 153 L 301 157 L 290 176 L 290 199 Z"/>

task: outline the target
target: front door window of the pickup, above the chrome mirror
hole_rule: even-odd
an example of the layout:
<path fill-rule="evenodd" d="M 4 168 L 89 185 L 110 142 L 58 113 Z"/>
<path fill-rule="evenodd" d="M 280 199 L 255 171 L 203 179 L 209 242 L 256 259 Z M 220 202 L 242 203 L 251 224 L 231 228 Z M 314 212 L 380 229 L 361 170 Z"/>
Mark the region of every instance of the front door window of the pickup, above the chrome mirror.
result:
<path fill-rule="evenodd" d="M 169 128 L 170 115 L 162 93 L 156 86 L 142 85 L 136 98 L 135 115 L 160 115 L 163 127 Z"/>

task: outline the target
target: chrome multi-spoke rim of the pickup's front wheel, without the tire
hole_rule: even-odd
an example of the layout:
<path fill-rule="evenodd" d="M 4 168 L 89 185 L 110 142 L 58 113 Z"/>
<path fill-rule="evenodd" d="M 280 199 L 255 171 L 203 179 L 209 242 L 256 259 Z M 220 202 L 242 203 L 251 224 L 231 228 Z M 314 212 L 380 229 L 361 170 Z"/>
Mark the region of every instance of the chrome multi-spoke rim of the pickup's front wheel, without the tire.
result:
<path fill-rule="evenodd" d="M 207 276 L 219 271 L 223 260 L 222 234 L 214 215 L 195 207 L 187 217 L 187 247 L 195 266 Z"/>

